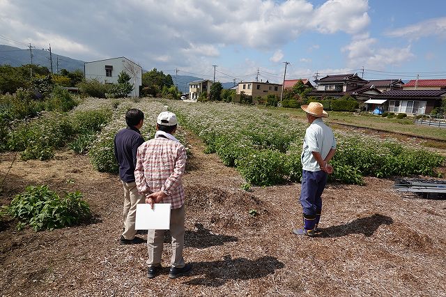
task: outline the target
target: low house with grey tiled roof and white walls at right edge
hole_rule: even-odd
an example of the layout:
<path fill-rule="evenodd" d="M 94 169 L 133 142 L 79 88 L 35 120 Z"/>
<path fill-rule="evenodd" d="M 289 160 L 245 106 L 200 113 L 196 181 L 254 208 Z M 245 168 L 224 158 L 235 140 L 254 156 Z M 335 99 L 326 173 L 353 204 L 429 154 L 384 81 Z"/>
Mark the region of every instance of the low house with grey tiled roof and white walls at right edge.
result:
<path fill-rule="evenodd" d="M 383 100 L 384 110 L 403 114 L 429 114 L 432 109 L 440 107 L 446 99 L 446 89 L 443 90 L 391 90 L 382 93 L 377 98 Z"/>

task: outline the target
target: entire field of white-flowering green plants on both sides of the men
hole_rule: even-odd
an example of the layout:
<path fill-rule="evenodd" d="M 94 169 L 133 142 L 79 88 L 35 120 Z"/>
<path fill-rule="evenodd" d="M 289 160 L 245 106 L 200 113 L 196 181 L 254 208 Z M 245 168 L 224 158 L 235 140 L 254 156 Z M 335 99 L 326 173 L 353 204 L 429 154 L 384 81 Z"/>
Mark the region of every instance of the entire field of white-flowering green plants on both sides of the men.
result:
<path fill-rule="evenodd" d="M 145 114 L 141 129 L 145 139 L 155 133 L 157 114 L 166 109 L 176 112 L 180 127 L 198 135 L 207 153 L 216 153 L 226 166 L 236 167 L 252 185 L 300 181 L 300 153 L 307 125 L 287 114 L 222 102 L 89 98 L 71 112 L 44 112 L 18 123 L 8 133 L 6 147 L 20 151 L 24 160 L 52 158 L 54 150 L 63 146 L 76 153 L 88 151 L 95 169 L 117 173 L 113 139 L 125 128 L 125 111 L 130 108 Z M 436 167 L 445 164 L 445 158 L 436 153 L 393 140 L 342 132 L 335 135 L 338 147 L 330 178 L 341 183 L 362 184 L 364 176 L 436 176 Z M 187 140 L 181 128 L 176 136 L 183 143 Z"/>

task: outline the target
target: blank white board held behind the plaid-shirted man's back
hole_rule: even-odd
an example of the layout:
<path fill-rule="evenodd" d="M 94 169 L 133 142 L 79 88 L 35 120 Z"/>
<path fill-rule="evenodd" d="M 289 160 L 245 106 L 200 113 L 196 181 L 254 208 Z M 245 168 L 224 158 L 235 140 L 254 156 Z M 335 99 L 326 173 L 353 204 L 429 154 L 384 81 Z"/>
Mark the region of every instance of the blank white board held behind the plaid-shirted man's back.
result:
<path fill-rule="evenodd" d="M 169 230 L 170 229 L 170 203 L 137 204 L 137 218 L 134 229 L 137 230 Z"/>

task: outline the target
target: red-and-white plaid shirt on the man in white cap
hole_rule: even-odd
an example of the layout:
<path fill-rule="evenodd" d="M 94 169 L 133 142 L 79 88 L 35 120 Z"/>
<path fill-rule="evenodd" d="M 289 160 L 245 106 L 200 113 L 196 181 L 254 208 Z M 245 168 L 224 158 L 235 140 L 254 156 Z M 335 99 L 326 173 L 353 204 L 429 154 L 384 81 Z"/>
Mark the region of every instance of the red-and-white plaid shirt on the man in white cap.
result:
<path fill-rule="evenodd" d="M 162 190 L 167 197 L 160 203 L 170 203 L 172 209 L 183 206 L 185 194 L 181 178 L 186 158 L 183 144 L 171 139 L 157 137 L 141 144 L 134 169 L 138 192 L 147 196 Z"/>

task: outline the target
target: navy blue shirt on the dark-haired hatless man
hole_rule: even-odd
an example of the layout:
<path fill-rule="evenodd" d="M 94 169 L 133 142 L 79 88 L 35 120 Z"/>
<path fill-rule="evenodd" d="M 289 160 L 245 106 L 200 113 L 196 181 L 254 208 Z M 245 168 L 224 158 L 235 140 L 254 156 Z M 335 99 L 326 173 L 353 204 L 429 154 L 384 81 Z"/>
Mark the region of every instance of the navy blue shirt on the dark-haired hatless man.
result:
<path fill-rule="evenodd" d="M 128 126 L 114 137 L 114 155 L 119 164 L 119 177 L 125 183 L 134 182 L 134 167 L 137 165 L 138 147 L 144 138 L 137 128 Z"/>

